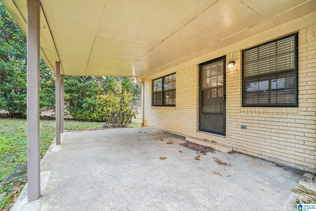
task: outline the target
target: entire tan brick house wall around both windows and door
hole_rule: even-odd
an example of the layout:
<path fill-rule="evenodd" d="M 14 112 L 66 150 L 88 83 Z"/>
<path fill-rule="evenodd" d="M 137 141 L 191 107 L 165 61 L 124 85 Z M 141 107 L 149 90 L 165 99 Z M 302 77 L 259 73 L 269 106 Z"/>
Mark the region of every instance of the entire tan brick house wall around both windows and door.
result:
<path fill-rule="evenodd" d="M 230 59 L 236 65 L 226 71 L 226 137 L 197 131 L 198 65 L 176 72 L 176 107 L 152 107 L 152 80 L 145 82 L 144 125 L 316 172 L 316 25 L 299 30 L 299 107 L 242 107 L 241 50 L 228 52 Z"/>

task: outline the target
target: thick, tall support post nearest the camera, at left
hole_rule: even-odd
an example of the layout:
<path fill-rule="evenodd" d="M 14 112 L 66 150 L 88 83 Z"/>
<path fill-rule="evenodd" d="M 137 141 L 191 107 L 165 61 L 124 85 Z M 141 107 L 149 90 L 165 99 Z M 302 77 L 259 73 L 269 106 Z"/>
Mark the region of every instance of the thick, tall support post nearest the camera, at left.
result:
<path fill-rule="evenodd" d="M 27 1 L 28 202 L 40 198 L 40 2 Z"/>

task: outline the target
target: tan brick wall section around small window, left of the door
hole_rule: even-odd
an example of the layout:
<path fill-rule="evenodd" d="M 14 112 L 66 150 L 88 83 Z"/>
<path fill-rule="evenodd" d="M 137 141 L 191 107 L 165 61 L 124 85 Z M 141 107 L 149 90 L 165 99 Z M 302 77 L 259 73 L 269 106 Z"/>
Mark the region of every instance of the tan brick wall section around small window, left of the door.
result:
<path fill-rule="evenodd" d="M 152 106 L 152 80 L 144 85 L 144 126 L 183 135 L 197 131 L 198 65 L 176 72 L 176 107 Z"/>

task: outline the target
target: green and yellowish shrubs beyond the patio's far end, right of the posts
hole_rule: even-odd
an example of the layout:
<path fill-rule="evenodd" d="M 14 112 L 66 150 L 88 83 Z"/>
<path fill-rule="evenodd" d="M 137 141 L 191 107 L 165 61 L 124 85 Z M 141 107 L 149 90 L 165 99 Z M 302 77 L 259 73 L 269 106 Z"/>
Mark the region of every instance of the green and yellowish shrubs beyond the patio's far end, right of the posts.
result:
<path fill-rule="evenodd" d="M 126 127 L 136 113 L 132 84 L 127 80 L 130 81 L 127 77 L 66 77 L 66 109 L 79 121 Z"/>

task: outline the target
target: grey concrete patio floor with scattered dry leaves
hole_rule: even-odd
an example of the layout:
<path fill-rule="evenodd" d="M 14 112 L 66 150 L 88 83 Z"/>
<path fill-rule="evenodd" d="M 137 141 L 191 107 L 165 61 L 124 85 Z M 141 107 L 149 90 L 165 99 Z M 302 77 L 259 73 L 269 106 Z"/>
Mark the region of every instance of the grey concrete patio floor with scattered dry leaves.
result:
<path fill-rule="evenodd" d="M 296 210 L 302 172 L 239 153 L 198 161 L 183 142 L 148 127 L 66 132 L 41 160 L 41 198 L 27 203 L 26 186 L 11 211 Z"/>

